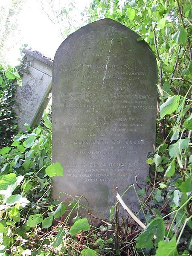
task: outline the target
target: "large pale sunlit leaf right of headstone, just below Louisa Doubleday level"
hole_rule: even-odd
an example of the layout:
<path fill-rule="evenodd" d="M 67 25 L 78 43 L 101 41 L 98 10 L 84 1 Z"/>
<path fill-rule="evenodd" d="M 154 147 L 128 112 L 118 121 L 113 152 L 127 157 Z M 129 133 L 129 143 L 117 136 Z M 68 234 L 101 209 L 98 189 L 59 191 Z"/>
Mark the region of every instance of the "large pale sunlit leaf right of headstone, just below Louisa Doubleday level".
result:
<path fill-rule="evenodd" d="M 169 97 L 165 103 L 160 106 L 160 117 L 163 118 L 166 115 L 170 115 L 179 106 L 180 95 L 174 95 Z"/>

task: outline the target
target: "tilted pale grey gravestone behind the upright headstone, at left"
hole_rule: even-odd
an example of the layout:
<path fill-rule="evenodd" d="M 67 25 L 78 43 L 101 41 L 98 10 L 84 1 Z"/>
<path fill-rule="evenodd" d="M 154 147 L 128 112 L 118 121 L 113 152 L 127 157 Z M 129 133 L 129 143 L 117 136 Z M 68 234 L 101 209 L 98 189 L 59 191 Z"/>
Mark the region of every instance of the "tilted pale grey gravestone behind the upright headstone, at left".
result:
<path fill-rule="evenodd" d="M 15 94 L 15 113 L 20 117 L 18 127 L 25 131 L 24 124 L 33 127 L 41 121 L 49 102 L 52 87 L 52 61 L 38 52 L 23 49 L 27 69 L 22 76 L 22 86 Z"/>

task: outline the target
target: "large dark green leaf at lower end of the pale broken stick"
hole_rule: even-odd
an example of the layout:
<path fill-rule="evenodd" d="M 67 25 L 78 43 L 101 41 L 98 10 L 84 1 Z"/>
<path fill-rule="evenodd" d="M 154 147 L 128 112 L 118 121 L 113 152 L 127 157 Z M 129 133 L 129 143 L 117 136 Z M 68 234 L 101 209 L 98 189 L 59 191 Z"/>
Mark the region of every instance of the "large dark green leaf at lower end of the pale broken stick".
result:
<path fill-rule="evenodd" d="M 163 218 L 154 218 L 143 230 L 143 232 L 135 239 L 137 241 L 136 248 L 148 248 L 151 249 L 153 245 L 153 237 L 157 236 L 156 242 L 163 240 L 165 236 L 165 227 L 163 224 Z"/>

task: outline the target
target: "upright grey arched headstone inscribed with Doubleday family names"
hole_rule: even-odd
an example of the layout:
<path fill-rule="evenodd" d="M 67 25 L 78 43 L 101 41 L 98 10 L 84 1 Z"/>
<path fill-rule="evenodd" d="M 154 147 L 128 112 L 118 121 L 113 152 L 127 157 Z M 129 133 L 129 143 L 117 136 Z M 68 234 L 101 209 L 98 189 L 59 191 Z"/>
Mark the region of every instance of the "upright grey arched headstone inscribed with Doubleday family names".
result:
<path fill-rule="evenodd" d="M 121 194 L 135 175 L 144 185 L 155 142 L 157 65 L 137 38 L 114 20 L 99 20 L 68 36 L 53 62 L 52 162 L 64 168 L 53 196 L 83 195 L 104 219 L 116 187 Z M 137 209 L 133 189 L 124 200 Z"/>

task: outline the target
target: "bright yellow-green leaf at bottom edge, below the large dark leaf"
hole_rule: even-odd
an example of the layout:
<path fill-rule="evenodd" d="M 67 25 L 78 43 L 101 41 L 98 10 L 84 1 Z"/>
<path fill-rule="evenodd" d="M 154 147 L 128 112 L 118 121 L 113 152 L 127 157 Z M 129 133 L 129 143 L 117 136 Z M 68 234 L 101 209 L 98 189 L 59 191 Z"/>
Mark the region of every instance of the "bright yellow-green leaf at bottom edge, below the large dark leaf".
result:
<path fill-rule="evenodd" d="M 170 242 L 160 241 L 155 256 L 179 256 L 175 237 Z"/>

